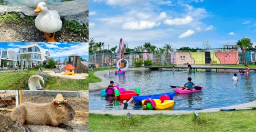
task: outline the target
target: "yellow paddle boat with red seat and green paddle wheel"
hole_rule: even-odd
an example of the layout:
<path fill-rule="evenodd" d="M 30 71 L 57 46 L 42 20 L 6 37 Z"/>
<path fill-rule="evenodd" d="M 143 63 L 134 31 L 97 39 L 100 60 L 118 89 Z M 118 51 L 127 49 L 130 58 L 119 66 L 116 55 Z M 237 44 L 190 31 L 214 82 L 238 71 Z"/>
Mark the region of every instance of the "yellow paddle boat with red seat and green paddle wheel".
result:
<path fill-rule="evenodd" d="M 159 99 L 145 99 L 142 100 L 142 109 L 157 110 L 157 109 L 167 109 L 174 105 L 174 101 L 166 94 L 159 97 Z"/>

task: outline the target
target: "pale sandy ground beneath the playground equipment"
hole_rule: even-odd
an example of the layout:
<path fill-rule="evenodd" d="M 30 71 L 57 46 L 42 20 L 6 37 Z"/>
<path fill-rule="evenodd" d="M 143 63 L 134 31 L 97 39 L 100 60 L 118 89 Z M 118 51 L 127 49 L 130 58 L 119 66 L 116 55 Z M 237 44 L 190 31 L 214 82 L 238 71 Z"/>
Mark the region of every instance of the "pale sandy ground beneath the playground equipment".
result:
<path fill-rule="evenodd" d="M 50 71 L 44 71 L 44 73 L 47 73 L 51 76 L 58 76 L 58 77 L 63 77 L 63 78 L 69 78 L 69 79 L 86 79 L 87 76 L 89 76 L 88 73 L 81 73 L 81 74 L 76 74 L 73 75 L 65 75 L 64 72 L 62 73 L 54 73 Z"/>

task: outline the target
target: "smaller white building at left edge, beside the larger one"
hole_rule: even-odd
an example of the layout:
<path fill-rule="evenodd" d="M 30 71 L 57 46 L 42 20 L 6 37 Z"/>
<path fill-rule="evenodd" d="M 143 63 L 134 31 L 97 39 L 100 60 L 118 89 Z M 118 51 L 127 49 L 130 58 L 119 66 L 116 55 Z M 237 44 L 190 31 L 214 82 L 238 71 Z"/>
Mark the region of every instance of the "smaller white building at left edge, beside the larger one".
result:
<path fill-rule="evenodd" d="M 17 51 L 13 49 L 0 50 L 0 68 L 15 67 L 17 61 Z"/>

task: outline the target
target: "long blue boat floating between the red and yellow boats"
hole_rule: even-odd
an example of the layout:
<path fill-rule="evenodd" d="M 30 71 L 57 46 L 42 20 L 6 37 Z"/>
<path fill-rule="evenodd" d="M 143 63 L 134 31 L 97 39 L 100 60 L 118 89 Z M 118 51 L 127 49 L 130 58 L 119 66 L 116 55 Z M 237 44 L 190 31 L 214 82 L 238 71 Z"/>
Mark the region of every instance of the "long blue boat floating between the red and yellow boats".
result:
<path fill-rule="evenodd" d="M 160 93 L 160 94 L 153 94 L 153 95 L 144 95 L 144 96 L 133 96 L 134 101 L 136 102 L 136 105 L 142 105 L 141 101 L 144 99 L 159 99 L 161 95 L 166 94 L 170 97 L 172 100 L 173 96 L 175 96 L 175 92 L 171 93 Z"/>

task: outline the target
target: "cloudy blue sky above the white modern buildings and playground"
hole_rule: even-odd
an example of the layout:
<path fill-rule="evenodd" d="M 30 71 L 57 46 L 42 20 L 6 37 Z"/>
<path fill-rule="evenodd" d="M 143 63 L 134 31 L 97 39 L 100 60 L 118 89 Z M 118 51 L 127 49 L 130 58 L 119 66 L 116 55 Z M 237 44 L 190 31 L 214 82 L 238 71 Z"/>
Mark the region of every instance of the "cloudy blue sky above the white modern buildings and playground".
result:
<path fill-rule="evenodd" d="M 1 49 L 14 49 L 15 51 L 19 51 L 20 46 L 26 45 L 29 43 L 0 43 Z M 37 43 L 42 46 L 44 49 L 49 49 L 50 56 L 54 58 L 54 60 L 58 60 L 59 57 L 63 62 L 65 57 L 75 53 L 78 56 L 83 57 L 83 59 L 88 60 L 88 43 Z"/>

